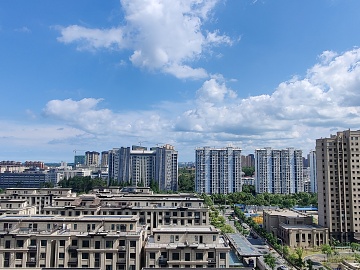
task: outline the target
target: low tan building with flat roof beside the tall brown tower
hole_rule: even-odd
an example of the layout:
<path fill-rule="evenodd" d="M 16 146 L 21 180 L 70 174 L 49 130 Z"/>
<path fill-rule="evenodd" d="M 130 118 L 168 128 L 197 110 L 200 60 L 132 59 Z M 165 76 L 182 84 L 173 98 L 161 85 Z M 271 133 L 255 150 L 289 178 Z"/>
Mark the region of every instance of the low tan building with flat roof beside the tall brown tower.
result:
<path fill-rule="evenodd" d="M 292 210 L 264 210 L 263 227 L 293 248 L 319 247 L 329 242 L 328 228 L 313 223 L 313 217 Z"/>

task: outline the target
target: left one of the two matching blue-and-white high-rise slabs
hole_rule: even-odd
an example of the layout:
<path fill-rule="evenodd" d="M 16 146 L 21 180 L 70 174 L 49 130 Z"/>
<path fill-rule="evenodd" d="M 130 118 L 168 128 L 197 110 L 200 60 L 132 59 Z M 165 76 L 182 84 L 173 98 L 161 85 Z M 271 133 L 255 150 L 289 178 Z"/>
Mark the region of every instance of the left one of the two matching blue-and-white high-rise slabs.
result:
<path fill-rule="evenodd" d="M 228 194 L 241 191 L 240 148 L 198 148 L 195 168 L 196 192 Z"/>

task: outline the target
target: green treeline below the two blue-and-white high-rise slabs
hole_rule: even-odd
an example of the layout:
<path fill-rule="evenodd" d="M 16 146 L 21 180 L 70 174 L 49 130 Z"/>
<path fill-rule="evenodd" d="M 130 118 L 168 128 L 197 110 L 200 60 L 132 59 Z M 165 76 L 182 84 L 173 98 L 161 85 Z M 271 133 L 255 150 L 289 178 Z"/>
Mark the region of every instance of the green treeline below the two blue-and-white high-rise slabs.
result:
<path fill-rule="evenodd" d="M 280 208 L 291 208 L 298 206 L 317 205 L 316 193 L 294 193 L 294 194 L 271 194 L 262 193 L 255 194 L 254 186 L 243 186 L 242 192 L 235 192 L 231 194 L 212 194 L 202 196 L 206 198 L 206 202 L 210 205 L 233 205 L 233 204 L 245 204 L 245 205 L 264 205 L 264 206 L 278 206 Z"/>

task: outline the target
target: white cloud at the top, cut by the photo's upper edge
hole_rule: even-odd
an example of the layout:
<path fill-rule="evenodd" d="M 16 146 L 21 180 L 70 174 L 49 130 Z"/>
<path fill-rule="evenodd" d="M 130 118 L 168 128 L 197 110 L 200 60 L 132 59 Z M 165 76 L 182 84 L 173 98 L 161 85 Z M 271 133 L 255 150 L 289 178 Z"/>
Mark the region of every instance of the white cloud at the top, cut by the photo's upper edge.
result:
<path fill-rule="evenodd" d="M 160 70 L 177 78 L 206 78 L 191 64 L 213 46 L 232 45 L 219 30 L 206 31 L 204 22 L 218 0 L 122 0 L 125 24 L 111 29 L 78 25 L 58 27 L 58 41 L 79 50 L 127 49 L 133 65 Z"/>

